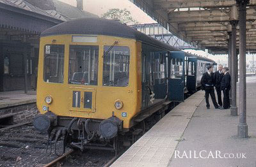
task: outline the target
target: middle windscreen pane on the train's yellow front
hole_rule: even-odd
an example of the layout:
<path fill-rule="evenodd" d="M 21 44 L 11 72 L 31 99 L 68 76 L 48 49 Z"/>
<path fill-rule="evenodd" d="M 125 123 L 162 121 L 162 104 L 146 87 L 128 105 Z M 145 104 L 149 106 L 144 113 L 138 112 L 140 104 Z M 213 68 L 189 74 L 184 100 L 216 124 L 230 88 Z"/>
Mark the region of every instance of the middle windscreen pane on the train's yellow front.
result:
<path fill-rule="evenodd" d="M 99 46 L 70 45 L 68 83 L 98 84 Z"/>

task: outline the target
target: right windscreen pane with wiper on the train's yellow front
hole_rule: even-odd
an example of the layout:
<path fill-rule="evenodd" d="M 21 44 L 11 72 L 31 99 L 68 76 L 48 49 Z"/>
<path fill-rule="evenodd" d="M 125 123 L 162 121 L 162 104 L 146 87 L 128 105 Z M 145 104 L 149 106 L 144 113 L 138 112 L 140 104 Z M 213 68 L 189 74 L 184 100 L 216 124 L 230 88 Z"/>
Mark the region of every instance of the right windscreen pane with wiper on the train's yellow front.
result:
<path fill-rule="evenodd" d="M 104 46 L 104 53 L 111 46 Z M 115 46 L 104 54 L 103 85 L 111 87 L 126 87 L 129 84 L 129 47 Z"/>

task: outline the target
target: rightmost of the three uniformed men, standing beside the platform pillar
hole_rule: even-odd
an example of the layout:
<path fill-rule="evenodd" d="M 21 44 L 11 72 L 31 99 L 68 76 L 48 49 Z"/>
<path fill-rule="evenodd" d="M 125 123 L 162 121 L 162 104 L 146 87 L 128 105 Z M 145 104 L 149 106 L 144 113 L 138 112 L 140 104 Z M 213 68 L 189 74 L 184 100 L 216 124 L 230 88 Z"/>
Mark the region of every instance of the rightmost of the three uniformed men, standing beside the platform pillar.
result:
<path fill-rule="evenodd" d="M 223 108 L 227 109 L 230 108 L 230 101 L 229 101 L 229 91 L 230 91 L 230 81 L 231 81 L 231 77 L 230 74 L 228 73 L 228 68 L 224 67 L 222 69 L 224 75 L 221 79 L 221 83 L 220 83 L 220 89 L 221 91 L 223 91 Z"/>

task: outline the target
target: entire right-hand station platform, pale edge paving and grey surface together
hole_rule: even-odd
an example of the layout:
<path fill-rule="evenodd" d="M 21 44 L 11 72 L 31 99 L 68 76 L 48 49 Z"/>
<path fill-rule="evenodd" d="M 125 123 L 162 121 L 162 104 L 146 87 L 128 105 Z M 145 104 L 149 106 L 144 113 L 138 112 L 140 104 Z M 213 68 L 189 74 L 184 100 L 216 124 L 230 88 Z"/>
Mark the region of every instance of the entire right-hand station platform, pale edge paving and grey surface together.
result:
<path fill-rule="evenodd" d="M 230 116 L 229 109 L 215 109 L 211 99 L 207 110 L 204 91 L 198 91 L 159 120 L 112 166 L 256 166 L 256 76 L 248 76 L 246 85 L 249 138 L 237 137 L 239 116 Z"/>

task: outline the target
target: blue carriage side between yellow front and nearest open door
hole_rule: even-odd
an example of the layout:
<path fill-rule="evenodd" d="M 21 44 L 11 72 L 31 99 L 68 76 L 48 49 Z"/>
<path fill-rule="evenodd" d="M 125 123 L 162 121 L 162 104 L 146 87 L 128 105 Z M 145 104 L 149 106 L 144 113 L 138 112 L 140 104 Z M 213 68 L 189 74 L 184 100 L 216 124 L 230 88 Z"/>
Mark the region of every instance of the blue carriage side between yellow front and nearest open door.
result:
<path fill-rule="evenodd" d="M 150 50 L 151 49 L 151 50 Z M 152 52 L 150 52 L 152 51 Z M 155 105 L 167 96 L 166 54 L 154 52 L 152 47 L 145 46 L 142 60 L 142 109 Z"/>

